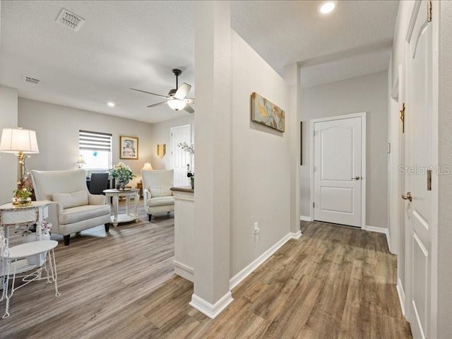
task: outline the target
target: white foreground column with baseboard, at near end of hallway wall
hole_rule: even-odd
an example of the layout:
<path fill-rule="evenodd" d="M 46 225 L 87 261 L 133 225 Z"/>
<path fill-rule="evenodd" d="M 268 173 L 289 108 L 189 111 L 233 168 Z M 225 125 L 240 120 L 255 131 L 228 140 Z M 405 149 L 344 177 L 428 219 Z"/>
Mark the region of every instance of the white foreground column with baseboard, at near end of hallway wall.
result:
<path fill-rule="evenodd" d="M 196 1 L 194 295 L 215 318 L 232 302 L 230 280 L 230 1 Z"/>

